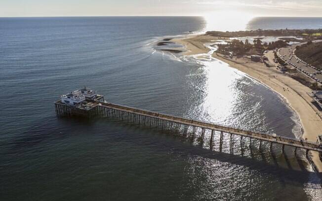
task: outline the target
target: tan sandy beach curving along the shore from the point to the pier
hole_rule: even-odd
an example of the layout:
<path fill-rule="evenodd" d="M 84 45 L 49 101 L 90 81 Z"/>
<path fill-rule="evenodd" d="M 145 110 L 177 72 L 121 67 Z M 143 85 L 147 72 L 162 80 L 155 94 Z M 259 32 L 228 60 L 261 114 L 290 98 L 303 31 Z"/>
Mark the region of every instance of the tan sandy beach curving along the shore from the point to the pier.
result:
<path fill-rule="evenodd" d="M 187 49 L 185 55 L 196 55 L 208 53 L 209 49 L 204 44 L 218 39 L 224 38 L 192 35 L 187 38 L 175 38 L 172 41 L 185 45 Z M 273 65 L 273 52 L 268 52 L 266 56 Z M 322 134 L 322 113 L 311 103 L 312 98 L 308 95 L 312 92 L 310 88 L 283 74 L 276 67 L 266 67 L 263 63 L 255 63 L 245 57 L 230 59 L 218 53 L 213 53 L 212 57 L 241 70 L 279 93 L 299 116 L 304 132 L 302 138 L 312 142 L 317 141 L 317 136 Z M 319 172 L 322 172 L 322 162 L 318 152 L 310 151 L 310 155 Z"/>

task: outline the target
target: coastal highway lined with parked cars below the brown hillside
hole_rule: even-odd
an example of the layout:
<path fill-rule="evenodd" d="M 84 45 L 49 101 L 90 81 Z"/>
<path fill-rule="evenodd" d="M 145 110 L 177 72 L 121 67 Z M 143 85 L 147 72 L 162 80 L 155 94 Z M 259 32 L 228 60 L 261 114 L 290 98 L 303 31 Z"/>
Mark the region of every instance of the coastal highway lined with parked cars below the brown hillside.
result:
<path fill-rule="evenodd" d="M 298 71 L 310 77 L 312 80 L 320 82 L 322 84 L 322 71 L 306 65 L 304 61 L 300 61 L 300 59 L 298 59 L 294 54 L 295 48 L 296 44 L 289 47 L 280 48 L 277 51 L 277 55 L 283 61 L 287 62 L 290 66 L 295 67 Z"/>

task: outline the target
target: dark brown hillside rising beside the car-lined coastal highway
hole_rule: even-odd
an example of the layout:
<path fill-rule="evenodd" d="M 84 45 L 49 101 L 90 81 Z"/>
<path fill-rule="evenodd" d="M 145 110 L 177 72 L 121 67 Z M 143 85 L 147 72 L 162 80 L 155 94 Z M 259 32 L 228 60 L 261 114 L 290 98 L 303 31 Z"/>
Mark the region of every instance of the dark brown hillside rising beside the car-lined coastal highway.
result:
<path fill-rule="evenodd" d="M 322 42 L 297 47 L 295 54 L 298 58 L 322 69 Z"/>

